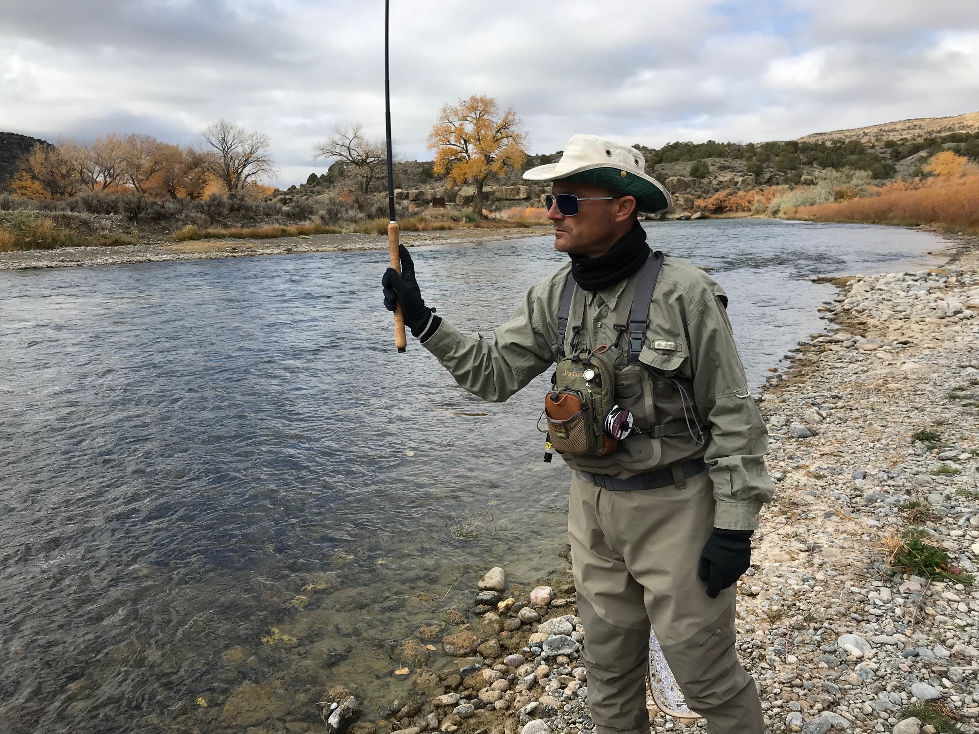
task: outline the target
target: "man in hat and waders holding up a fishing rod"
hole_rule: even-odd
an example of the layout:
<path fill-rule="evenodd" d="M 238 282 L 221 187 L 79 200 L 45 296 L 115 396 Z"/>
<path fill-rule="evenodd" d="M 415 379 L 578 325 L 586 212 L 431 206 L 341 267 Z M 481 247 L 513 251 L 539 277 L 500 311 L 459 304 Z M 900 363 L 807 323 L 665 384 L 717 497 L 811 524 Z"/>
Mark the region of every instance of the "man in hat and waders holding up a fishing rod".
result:
<path fill-rule="evenodd" d="M 635 406 L 636 432 L 608 455 L 562 455 L 576 470 L 568 532 L 597 733 L 649 730 L 652 624 L 708 731 L 762 734 L 755 683 L 734 652 L 733 584 L 750 565 L 751 534 L 773 487 L 768 433 L 734 346 L 727 298 L 688 262 L 650 252 L 636 211 L 672 203 L 638 151 L 576 135 L 560 161 L 524 178 L 553 182 L 547 218 L 555 249 L 571 261 L 531 288 L 492 344 L 460 334 L 425 305 L 407 251 L 403 277 L 389 269 L 383 278 L 385 304 L 400 303 L 412 335 L 459 385 L 492 401 L 575 349 L 607 345 L 616 400 Z M 648 307 L 633 306 L 650 286 Z M 570 303 L 562 303 L 566 294 Z M 629 383 L 629 374 L 639 378 Z"/>

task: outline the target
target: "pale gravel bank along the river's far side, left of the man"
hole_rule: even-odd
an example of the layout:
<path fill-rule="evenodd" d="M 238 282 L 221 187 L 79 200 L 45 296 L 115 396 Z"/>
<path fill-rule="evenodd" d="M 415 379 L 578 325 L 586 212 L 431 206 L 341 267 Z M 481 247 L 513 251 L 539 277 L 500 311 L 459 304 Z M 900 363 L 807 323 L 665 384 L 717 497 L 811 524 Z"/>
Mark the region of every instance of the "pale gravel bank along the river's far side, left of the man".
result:
<path fill-rule="evenodd" d="M 424 245 L 468 245 L 475 242 L 513 240 L 548 234 L 550 227 L 515 227 L 512 229 L 447 232 L 402 232 L 407 247 Z M 62 248 L 0 252 L 0 270 L 29 270 L 45 267 L 78 265 L 119 265 L 132 262 L 166 262 L 201 260 L 215 257 L 254 257 L 263 254 L 292 252 L 354 252 L 387 250 L 388 239 L 378 235 L 300 235 L 274 240 L 192 240 L 188 242 L 150 241 L 140 245 L 112 248 Z"/>

